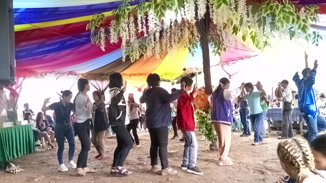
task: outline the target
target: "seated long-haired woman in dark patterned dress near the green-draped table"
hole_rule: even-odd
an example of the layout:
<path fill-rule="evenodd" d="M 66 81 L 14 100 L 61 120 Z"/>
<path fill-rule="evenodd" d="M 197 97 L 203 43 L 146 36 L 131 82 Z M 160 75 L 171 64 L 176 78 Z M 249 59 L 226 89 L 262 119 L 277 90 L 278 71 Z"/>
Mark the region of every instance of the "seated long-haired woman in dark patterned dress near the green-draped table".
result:
<path fill-rule="evenodd" d="M 36 115 L 36 126 L 40 131 L 41 137 L 44 137 L 44 139 L 48 143 L 48 146 L 50 146 L 53 149 L 54 145 L 51 142 L 54 139 L 54 132 L 52 131 L 52 128 L 49 127 L 48 122 L 43 119 L 42 112 L 38 112 Z"/>

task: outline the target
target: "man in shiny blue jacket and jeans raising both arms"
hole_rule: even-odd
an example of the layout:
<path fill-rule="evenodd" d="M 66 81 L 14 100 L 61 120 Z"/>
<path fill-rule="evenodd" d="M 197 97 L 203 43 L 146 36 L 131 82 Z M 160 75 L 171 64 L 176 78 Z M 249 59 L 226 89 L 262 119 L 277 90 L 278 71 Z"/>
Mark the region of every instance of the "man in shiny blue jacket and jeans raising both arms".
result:
<path fill-rule="evenodd" d="M 315 93 L 312 86 L 315 84 L 315 77 L 317 73 L 318 61 L 315 60 L 314 68 L 305 68 L 302 71 L 303 78 L 300 79 L 299 72 L 295 73 L 293 81 L 298 87 L 298 105 L 306 121 L 308 133 L 304 134 L 310 143 L 318 136 L 318 133 L 326 128 L 326 120 L 317 113 L 317 106 L 315 100 Z"/>

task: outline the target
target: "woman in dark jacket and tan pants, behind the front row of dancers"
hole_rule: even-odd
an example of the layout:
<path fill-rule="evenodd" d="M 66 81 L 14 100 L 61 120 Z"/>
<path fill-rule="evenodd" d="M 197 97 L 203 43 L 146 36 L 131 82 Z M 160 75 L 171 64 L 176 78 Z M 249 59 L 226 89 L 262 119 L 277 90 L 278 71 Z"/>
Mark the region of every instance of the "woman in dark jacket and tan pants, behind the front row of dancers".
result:
<path fill-rule="evenodd" d="M 105 104 L 101 100 L 101 92 L 93 92 L 94 104 L 94 126 L 92 131 L 92 143 L 96 148 L 98 155 L 95 156 L 98 160 L 104 160 L 106 157 L 105 149 L 105 131 L 108 129 L 108 117 L 106 115 Z"/>

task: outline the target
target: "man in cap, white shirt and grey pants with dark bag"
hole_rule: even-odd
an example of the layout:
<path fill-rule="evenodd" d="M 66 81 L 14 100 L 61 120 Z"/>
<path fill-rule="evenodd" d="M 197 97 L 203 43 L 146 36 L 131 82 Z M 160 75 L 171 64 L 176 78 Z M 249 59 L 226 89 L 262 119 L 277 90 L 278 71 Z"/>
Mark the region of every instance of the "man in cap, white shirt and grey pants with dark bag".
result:
<path fill-rule="evenodd" d="M 284 90 L 282 90 L 284 89 Z M 278 83 L 278 96 L 281 96 L 282 99 L 282 136 L 278 137 L 279 139 L 283 138 L 292 138 L 292 90 L 289 87 L 289 81 L 283 80 Z"/>

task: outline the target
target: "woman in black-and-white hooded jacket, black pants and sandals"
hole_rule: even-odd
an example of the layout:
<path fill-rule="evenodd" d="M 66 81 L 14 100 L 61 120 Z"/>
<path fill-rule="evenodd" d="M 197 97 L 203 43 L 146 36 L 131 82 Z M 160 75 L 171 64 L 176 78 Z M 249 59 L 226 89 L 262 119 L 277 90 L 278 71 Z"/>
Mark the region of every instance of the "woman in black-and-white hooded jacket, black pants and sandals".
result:
<path fill-rule="evenodd" d="M 113 164 L 111 167 L 111 174 L 128 176 L 130 171 L 123 167 L 123 164 L 133 146 L 128 130 L 125 127 L 126 122 L 126 99 L 124 92 L 126 91 L 127 82 L 123 86 L 123 79 L 120 73 L 113 73 L 110 75 L 110 105 L 109 105 L 109 124 L 117 138 L 117 148 L 115 148 L 113 155 Z M 122 88 L 122 89 L 121 89 Z"/>

